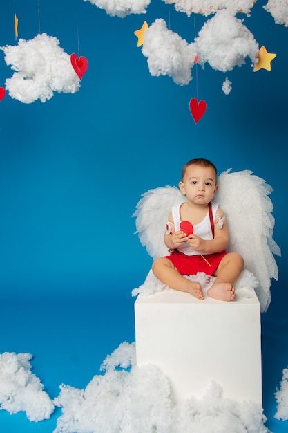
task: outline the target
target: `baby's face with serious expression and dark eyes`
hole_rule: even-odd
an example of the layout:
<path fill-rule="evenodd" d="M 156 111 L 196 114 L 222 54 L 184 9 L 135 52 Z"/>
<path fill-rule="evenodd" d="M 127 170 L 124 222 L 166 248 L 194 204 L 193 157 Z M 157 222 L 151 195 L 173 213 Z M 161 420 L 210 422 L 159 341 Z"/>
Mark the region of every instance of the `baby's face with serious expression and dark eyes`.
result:
<path fill-rule="evenodd" d="M 209 203 L 217 191 L 216 174 L 213 167 L 190 165 L 179 187 L 187 199 L 195 204 Z"/>

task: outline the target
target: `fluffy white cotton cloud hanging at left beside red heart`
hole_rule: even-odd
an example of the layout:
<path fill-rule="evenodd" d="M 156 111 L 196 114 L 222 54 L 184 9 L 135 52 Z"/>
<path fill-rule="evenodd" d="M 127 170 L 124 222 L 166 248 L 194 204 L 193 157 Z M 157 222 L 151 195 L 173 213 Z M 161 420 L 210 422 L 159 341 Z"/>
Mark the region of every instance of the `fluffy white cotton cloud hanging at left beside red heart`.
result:
<path fill-rule="evenodd" d="M 71 66 L 70 55 L 59 46 L 56 37 L 42 33 L 28 41 L 19 39 L 16 46 L 0 49 L 6 64 L 16 71 L 5 82 L 11 98 L 30 104 L 37 99 L 46 102 L 54 92 L 79 90 L 79 77 Z"/>

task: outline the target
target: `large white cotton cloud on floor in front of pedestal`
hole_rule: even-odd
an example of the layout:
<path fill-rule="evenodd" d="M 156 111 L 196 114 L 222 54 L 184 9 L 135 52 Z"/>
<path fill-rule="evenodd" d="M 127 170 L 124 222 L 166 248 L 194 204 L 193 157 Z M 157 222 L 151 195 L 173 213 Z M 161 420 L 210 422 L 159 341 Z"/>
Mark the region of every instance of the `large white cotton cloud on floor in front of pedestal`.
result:
<path fill-rule="evenodd" d="M 130 371 L 119 369 L 131 363 Z M 61 385 L 62 408 L 54 433 L 267 433 L 262 408 L 223 398 L 211 383 L 202 400 L 175 403 L 169 380 L 155 365 L 135 365 L 135 343 L 124 342 L 104 360 L 108 367 L 86 389 Z M 116 367 L 118 366 L 118 369 Z"/>

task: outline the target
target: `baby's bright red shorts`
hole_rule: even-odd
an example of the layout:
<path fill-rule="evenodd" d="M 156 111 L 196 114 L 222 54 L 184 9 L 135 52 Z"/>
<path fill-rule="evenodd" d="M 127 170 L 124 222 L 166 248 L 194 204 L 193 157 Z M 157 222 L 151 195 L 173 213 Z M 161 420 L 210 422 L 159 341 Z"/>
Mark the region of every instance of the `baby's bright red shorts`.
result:
<path fill-rule="evenodd" d="M 213 254 L 205 254 L 204 257 L 211 266 L 207 264 L 200 254 L 188 256 L 183 252 L 175 250 L 174 252 L 171 252 L 171 255 L 165 257 L 172 261 L 173 265 L 181 275 L 196 275 L 198 272 L 213 275 L 224 255 L 227 255 L 227 252 L 224 250 Z"/>

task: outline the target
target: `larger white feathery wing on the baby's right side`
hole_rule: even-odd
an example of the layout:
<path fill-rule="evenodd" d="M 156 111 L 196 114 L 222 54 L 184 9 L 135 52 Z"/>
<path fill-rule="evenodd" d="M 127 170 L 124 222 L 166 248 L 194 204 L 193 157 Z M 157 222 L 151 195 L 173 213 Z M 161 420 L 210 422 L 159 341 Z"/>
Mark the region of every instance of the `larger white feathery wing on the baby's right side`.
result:
<path fill-rule="evenodd" d="M 278 279 L 278 266 L 273 254 L 280 248 L 273 240 L 273 204 L 269 194 L 273 188 L 249 170 L 222 172 L 214 201 L 224 211 L 229 227 L 227 251 L 239 252 L 244 267 L 258 279 L 256 293 L 261 311 L 267 311 L 271 302 L 271 278 Z"/>

